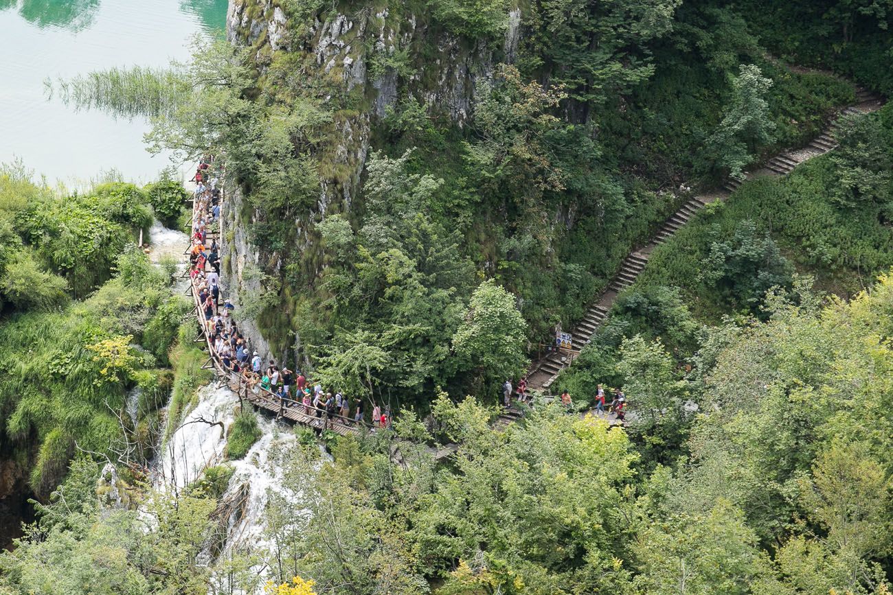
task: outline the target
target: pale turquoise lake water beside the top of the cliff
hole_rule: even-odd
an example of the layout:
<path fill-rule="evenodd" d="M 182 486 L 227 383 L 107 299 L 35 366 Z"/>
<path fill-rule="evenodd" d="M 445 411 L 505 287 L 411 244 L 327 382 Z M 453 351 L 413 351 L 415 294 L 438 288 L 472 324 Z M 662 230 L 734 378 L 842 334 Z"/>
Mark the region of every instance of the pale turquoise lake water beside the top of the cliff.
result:
<path fill-rule="evenodd" d="M 116 169 L 146 182 L 170 164 L 146 153 L 145 121 L 76 112 L 44 81 L 111 66 L 163 66 L 197 35 L 221 34 L 227 0 L 0 0 L 0 162 L 21 158 L 77 186 Z"/>

